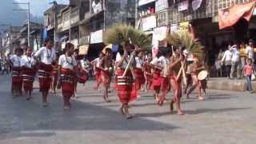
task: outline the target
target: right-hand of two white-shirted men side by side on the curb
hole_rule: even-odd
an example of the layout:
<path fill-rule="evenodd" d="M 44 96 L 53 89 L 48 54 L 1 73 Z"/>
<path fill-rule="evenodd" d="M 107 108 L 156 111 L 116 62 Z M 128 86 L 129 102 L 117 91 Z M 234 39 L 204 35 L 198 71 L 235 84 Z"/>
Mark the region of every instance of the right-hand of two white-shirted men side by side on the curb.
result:
<path fill-rule="evenodd" d="M 238 50 L 238 46 L 234 45 L 231 47 L 232 49 L 232 58 L 231 58 L 231 72 L 230 78 L 234 78 L 234 72 L 237 72 L 237 78 L 240 79 L 240 67 L 241 67 L 241 59 L 240 59 L 240 51 Z"/>

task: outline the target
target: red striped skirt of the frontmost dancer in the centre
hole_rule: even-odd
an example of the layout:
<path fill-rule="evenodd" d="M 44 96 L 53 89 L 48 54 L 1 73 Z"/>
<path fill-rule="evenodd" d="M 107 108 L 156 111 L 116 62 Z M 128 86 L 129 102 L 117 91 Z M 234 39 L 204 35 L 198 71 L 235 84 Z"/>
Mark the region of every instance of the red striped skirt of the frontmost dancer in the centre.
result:
<path fill-rule="evenodd" d="M 118 98 L 122 103 L 129 103 L 137 98 L 138 91 L 136 90 L 131 72 L 128 71 L 126 76 L 122 78 L 123 73 L 124 70 L 118 69 L 116 77 Z"/>

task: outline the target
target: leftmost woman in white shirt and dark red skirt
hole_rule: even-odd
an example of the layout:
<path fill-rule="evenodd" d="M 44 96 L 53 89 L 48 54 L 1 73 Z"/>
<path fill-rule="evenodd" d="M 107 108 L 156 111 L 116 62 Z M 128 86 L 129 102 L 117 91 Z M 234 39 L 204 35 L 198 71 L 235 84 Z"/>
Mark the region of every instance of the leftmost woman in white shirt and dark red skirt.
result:
<path fill-rule="evenodd" d="M 10 57 L 9 64 L 12 70 L 11 92 L 15 97 L 22 95 L 22 74 L 21 74 L 21 56 L 22 49 L 14 50 L 14 55 Z"/>

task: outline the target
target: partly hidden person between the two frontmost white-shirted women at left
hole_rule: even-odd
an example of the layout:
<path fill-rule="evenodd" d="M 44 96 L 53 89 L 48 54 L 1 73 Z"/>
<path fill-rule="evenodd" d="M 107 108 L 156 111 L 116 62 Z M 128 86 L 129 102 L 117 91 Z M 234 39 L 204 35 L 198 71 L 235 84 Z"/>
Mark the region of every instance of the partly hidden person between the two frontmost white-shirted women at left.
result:
<path fill-rule="evenodd" d="M 54 94 L 56 94 L 56 86 L 57 86 L 57 82 L 58 82 L 58 58 L 59 55 L 58 53 L 56 53 L 56 58 L 55 61 L 52 63 L 52 82 L 51 82 L 51 90 Z"/>

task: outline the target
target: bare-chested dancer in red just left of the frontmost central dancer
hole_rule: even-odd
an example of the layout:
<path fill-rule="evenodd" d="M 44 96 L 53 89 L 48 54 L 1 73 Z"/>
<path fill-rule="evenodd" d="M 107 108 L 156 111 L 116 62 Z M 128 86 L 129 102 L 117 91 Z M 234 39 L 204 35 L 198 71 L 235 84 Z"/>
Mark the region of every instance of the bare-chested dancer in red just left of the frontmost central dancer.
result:
<path fill-rule="evenodd" d="M 109 88 L 111 82 L 111 76 L 113 73 L 113 63 L 112 63 L 112 50 L 110 48 L 105 49 L 104 56 L 100 60 L 99 69 L 101 70 L 102 84 L 104 86 L 104 100 L 105 102 L 110 102 L 109 100 Z"/>

